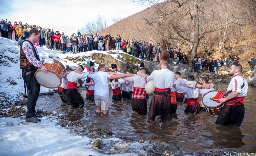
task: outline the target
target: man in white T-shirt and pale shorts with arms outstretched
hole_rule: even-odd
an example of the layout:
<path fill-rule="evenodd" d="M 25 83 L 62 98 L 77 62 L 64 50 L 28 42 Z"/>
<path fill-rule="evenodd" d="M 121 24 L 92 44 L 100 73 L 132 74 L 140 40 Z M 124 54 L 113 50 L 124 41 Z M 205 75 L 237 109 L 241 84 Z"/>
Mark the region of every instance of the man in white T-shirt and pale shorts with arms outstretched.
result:
<path fill-rule="evenodd" d="M 134 74 L 127 73 L 122 75 L 116 75 L 115 72 L 106 72 L 105 65 L 101 64 L 98 67 L 98 71 L 95 74 L 90 74 L 88 77 L 92 78 L 95 82 L 95 92 L 94 92 L 94 100 L 96 105 L 96 112 L 101 112 L 103 114 L 108 113 L 109 106 L 109 87 L 108 80 L 109 79 L 118 79 L 123 77 L 132 77 Z"/>

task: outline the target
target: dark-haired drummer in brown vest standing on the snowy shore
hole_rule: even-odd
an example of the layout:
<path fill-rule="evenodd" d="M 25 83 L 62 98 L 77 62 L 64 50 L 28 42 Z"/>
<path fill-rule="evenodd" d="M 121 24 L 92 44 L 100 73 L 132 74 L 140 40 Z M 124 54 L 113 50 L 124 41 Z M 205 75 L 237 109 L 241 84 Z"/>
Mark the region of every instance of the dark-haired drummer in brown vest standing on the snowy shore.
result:
<path fill-rule="evenodd" d="M 26 122 L 41 122 L 41 115 L 36 115 L 35 106 L 40 92 L 40 84 L 34 73 L 37 69 L 41 69 L 47 74 L 48 70 L 40 61 L 37 48 L 35 44 L 39 41 L 40 33 L 36 29 L 29 32 L 28 39 L 23 41 L 20 48 L 20 68 L 22 69 L 22 78 L 24 80 L 24 87 L 28 89 L 28 112 L 26 115 Z M 25 87 L 26 94 L 26 87 Z"/>

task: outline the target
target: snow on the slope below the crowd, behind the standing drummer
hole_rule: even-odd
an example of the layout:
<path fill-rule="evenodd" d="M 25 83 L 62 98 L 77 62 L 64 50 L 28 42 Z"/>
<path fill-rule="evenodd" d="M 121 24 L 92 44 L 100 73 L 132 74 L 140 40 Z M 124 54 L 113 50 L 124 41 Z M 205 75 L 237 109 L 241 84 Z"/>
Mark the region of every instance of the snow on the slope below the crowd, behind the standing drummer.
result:
<path fill-rule="evenodd" d="M 63 54 L 60 51 L 50 50 L 46 47 L 37 47 L 40 59 L 53 58 L 60 61 L 65 67 L 77 67 L 79 64 L 86 64 L 87 58 L 93 53 L 104 53 L 106 55 L 111 55 L 116 60 L 122 61 L 118 58 L 122 58 L 118 53 L 124 53 L 119 51 L 118 53 L 109 54 L 108 51 L 97 51 L 93 50 L 90 52 L 83 53 L 66 53 Z M 113 52 L 117 52 L 113 50 Z M 14 103 L 21 98 L 21 92 L 24 92 L 23 78 L 21 77 L 21 69 L 19 68 L 19 53 L 20 46 L 18 46 L 17 41 L 0 37 L 0 103 Z M 126 53 L 125 53 L 126 54 Z M 70 61 L 65 59 L 67 57 L 80 57 L 86 58 L 83 62 Z M 95 60 L 92 60 L 95 62 Z M 95 69 L 97 69 L 99 64 L 95 63 Z M 48 89 L 41 86 L 40 93 L 46 93 L 53 89 Z M 8 97 L 8 98 L 7 98 Z"/>

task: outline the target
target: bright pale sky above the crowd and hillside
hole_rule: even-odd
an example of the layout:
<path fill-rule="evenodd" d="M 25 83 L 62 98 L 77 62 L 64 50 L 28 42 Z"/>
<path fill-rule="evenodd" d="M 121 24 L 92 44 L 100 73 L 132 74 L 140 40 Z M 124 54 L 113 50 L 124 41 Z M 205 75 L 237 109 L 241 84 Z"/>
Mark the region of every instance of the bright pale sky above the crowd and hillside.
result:
<path fill-rule="evenodd" d="M 146 8 L 131 0 L 0 0 L 0 6 L 0 18 L 12 24 L 21 21 L 67 35 L 96 21 L 98 14 L 110 26 L 113 18 L 126 18 Z"/>

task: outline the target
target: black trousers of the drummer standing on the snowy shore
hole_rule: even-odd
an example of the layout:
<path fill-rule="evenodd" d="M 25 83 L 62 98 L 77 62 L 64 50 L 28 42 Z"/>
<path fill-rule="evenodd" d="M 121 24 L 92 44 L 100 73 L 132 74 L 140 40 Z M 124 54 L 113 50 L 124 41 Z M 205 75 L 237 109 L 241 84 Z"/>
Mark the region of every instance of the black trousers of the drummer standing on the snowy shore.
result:
<path fill-rule="evenodd" d="M 35 78 L 36 70 L 22 69 L 22 78 L 28 90 L 28 112 L 27 117 L 35 116 L 36 103 L 40 92 L 40 85 Z M 25 86 L 24 86 L 25 87 Z"/>

